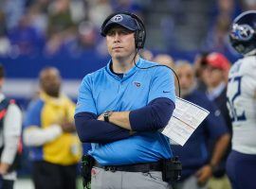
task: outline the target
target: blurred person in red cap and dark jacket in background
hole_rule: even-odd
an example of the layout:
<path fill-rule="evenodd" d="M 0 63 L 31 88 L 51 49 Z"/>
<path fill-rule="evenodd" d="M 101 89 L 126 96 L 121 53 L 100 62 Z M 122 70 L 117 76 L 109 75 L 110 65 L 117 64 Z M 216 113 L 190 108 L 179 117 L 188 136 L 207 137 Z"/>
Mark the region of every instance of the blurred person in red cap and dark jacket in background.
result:
<path fill-rule="evenodd" d="M 229 129 L 229 134 L 232 135 L 232 122 L 229 117 L 229 110 L 227 107 L 227 83 L 230 62 L 229 60 L 220 53 L 210 53 L 206 60 L 203 69 L 202 77 L 206 83 L 207 91 L 210 101 L 213 101 L 220 110 L 226 125 Z M 231 188 L 229 179 L 226 175 L 226 160 L 228 158 L 231 149 L 229 141 L 229 149 L 223 157 L 219 166 L 213 171 L 213 178 L 210 180 L 210 189 L 229 189 Z"/>

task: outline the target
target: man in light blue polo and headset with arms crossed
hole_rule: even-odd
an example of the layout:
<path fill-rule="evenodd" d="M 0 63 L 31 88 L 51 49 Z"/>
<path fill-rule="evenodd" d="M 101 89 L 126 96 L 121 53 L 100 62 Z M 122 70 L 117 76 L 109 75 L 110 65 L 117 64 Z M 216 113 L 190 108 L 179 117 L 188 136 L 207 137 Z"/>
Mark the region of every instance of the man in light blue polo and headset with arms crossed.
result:
<path fill-rule="evenodd" d="M 81 141 L 93 143 L 91 187 L 169 188 L 161 162 L 173 153 L 158 129 L 174 111 L 173 74 L 138 57 L 145 28 L 136 15 L 110 15 L 101 34 L 111 60 L 83 78 L 75 114 Z"/>

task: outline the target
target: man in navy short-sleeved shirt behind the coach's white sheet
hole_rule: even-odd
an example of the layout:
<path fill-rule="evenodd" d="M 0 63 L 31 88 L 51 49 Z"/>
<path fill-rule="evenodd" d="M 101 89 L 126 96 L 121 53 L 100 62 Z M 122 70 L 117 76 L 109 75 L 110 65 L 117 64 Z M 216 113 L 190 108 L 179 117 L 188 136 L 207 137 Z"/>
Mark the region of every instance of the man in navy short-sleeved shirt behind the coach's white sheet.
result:
<path fill-rule="evenodd" d="M 196 90 L 192 65 L 186 62 L 175 64 L 175 69 L 179 77 L 181 96 L 205 108 L 210 114 L 184 146 L 172 145 L 174 155 L 182 163 L 182 180 L 174 185 L 174 189 L 206 188 L 207 181 L 229 145 L 230 136 L 220 112 L 205 94 Z M 215 142 L 211 156 L 208 151 L 210 140 Z"/>

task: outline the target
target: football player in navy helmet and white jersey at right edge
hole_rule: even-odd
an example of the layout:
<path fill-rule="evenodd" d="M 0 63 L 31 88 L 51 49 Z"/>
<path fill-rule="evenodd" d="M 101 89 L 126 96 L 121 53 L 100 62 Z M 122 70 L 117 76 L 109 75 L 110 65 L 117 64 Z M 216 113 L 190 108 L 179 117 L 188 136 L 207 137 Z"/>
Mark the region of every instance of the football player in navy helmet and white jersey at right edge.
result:
<path fill-rule="evenodd" d="M 227 171 L 233 189 L 256 188 L 256 11 L 240 14 L 229 34 L 232 46 L 244 56 L 229 71 L 227 90 L 232 120 L 232 151 Z"/>

